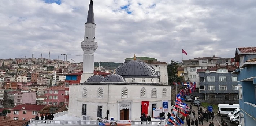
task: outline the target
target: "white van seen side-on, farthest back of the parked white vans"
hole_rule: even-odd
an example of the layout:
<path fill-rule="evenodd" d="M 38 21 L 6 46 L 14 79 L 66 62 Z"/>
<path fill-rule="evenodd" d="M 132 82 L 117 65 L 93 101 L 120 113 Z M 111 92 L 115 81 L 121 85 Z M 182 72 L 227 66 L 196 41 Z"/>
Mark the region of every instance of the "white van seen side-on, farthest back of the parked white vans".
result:
<path fill-rule="evenodd" d="M 228 116 L 228 113 L 233 112 L 237 108 L 239 108 L 239 104 L 218 104 L 218 114 L 219 116 Z"/>

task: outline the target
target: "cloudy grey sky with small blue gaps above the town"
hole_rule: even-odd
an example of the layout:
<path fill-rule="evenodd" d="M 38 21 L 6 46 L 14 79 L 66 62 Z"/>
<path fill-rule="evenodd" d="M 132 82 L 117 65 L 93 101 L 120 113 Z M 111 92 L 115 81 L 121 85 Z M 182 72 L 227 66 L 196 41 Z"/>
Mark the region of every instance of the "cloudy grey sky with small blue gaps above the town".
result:
<path fill-rule="evenodd" d="M 0 59 L 83 55 L 90 0 L 0 0 Z M 234 57 L 256 45 L 256 0 L 93 0 L 95 62 Z M 82 56 L 68 60 L 82 62 Z"/>

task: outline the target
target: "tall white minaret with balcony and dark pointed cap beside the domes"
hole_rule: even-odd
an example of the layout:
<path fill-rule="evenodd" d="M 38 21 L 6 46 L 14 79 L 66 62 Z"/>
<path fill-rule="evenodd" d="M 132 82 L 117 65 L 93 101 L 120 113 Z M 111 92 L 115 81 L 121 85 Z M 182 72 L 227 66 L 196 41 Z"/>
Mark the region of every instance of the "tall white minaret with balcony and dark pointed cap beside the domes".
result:
<path fill-rule="evenodd" d="M 81 42 L 81 48 L 84 51 L 84 59 L 83 73 L 80 83 L 85 82 L 89 77 L 93 75 L 94 52 L 98 48 L 98 44 L 95 42 L 95 26 L 96 24 L 94 22 L 93 3 L 92 0 L 90 0 L 87 21 L 84 28 L 84 41 Z"/>

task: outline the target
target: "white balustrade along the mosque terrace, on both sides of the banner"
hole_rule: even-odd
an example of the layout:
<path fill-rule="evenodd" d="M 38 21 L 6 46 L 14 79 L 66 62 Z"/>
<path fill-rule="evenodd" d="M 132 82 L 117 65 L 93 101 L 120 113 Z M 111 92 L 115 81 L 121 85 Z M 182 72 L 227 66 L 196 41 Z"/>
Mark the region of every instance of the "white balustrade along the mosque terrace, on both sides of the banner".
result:
<path fill-rule="evenodd" d="M 164 126 L 165 121 L 131 121 L 132 125 L 144 125 L 144 126 Z M 80 126 L 97 126 L 99 122 L 97 120 L 30 120 L 30 126 L 40 125 L 80 125 Z"/>

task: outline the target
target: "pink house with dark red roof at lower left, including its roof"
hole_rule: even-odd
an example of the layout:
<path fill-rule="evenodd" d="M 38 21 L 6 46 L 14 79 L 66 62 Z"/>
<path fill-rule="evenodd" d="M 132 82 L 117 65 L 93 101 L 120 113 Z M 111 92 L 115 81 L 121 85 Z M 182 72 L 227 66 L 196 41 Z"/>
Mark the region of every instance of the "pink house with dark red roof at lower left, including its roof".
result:
<path fill-rule="evenodd" d="M 11 113 L 8 116 L 11 120 L 30 120 L 34 119 L 35 116 L 44 108 L 44 105 L 35 104 L 21 104 L 10 109 Z M 39 116 L 39 115 L 38 115 Z"/>

